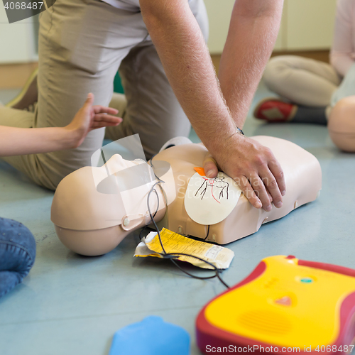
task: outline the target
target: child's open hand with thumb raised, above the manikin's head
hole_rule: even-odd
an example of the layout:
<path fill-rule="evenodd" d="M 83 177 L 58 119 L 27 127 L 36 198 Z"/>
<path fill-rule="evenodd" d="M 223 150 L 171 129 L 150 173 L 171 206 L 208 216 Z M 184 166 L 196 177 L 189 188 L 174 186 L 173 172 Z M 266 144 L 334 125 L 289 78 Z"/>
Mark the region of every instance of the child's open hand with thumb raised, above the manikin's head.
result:
<path fill-rule="evenodd" d="M 74 119 L 65 127 L 74 134 L 73 148 L 82 144 L 89 131 L 107 126 L 118 126 L 122 121 L 120 117 L 111 116 L 118 114 L 119 111 L 116 109 L 99 105 L 92 106 L 93 102 L 94 94 L 88 94 L 83 107 L 77 111 Z"/>

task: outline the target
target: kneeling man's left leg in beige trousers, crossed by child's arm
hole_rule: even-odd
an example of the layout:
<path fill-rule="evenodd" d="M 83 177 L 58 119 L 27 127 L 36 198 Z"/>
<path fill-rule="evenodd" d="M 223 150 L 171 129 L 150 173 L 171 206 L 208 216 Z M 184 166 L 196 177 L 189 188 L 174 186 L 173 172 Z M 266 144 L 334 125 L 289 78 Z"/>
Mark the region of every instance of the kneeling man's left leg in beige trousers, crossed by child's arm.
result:
<path fill-rule="evenodd" d="M 146 37 L 141 15 L 102 1 L 57 1 L 40 16 L 38 106 L 33 127 L 67 126 L 87 94 L 94 104 L 107 106 L 114 75 L 129 48 Z M 130 35 L 126 35 L 130 28 Z M 104 129 L 89 132 L 79 148 L 53 153 L 23 155 L 30 173 L 15 160 L 6 161 L 24 171 L 38 185 L 55 190 L 65 175 L 91 165 L 101 148 Z"/>

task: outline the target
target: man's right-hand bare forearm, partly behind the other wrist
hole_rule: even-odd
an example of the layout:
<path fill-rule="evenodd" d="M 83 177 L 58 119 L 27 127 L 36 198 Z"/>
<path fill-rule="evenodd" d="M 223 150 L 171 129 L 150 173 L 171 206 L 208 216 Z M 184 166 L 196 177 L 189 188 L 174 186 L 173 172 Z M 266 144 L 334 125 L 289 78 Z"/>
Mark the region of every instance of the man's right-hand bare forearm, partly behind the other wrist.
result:
<path fill-rule="evenodd" d="M 283 0 L 237 0 L 219 65 L 231 116 L 242 127 L 278 35 Z"/>

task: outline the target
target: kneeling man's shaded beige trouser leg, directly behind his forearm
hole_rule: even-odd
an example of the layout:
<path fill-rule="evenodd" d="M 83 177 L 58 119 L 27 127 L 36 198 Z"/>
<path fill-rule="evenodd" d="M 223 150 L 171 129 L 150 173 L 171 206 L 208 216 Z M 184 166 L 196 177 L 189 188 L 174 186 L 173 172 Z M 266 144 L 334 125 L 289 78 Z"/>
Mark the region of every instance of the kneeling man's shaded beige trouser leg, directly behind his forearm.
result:
<path fill-rule="evenodd" d="M 119 126 L 107 129 L 107 138 L 116 140 L 138 133 L 149 159 L 168 139 L 189 135 L 190 122 L 150 40 L 131 50 L 119 72 L 127 99 L 126 113 Z"/>

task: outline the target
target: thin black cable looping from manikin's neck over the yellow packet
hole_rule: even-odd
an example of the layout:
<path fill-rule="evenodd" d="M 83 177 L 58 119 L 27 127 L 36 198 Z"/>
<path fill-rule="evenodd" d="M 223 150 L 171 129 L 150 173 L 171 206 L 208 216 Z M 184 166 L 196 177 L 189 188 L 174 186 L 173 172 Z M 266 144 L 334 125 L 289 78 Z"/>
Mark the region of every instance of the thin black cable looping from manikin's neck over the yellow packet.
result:
<path fill-rule="evenodd" d="M 153 159 L 153 158 L 152 158 Z M 153 163 L 151 161 L 151 167 L 154 169 L 154 166 L 153 166 Z M 154 171 L 154 170 L 153 170 Z M 155 173 L 154 173 L 155 175 Z M 221 275 L 220 273 L 222 273 L 221 270 L 219 270 L 219 268 L 217 268 L 217 266 L 214 266 L 212 263 L 209 263 L 209 261 L 206 261 L 198 256 L 194 256 L 194 255 L 190 255 L 190 254 L 186 254 L 186 253 L 167 253 L 165 251 L 165 248 L 163 246 L 163 241 L 161 240 L 161 236 L 160 236 L 160 231 L 159 231 L 159 228 L 157 226 L 157 224 L 155 223 L 155 220 L 154 220 L 154 217 L 155 215 L 157 214 L 158 212 L 158 209 L 159 209 L 159 196 L 158 196 L 158 192 L 156 192 L 155 190 L 155 186 L 156 185 L 159 185 L 161 182 L 164 182 L 163 180 L 161 180 L 160 178 L 158 178 L 158 176 L 155 175 L 155 178 L 158 180 L 157 182 L 155 182 L 155 184 L 152 186 L 151 190 L 149 191 L 148 193 L 148 197 L 147 197 L 147 206 L 148 206 L 148 212 L 149 212 L 149 216 L 151 217 L 151 222 L 153 224 L 153 226 L 155 227 L 155 231 L 157 232 L 158 234 L 158 239 L 159 239 L 159 242 L 160 242 L 160 246 L 161 246 L 161 249 L 163 250 L 163 253 L 160 253 L 161 256 L 163 256 L 163 258 L 169 258 L 170 261 L 172 261 L 172 263 L 177 267 L 179 268 L 183 273 L 189 275 L 190 277 L 192 278 L 197 278 L 199 280 L 208 280 L 210 278 L 218 278 L 219 281 L 221 281 L 221 283 L 226 287 L 226 288 L 230 288 L 229 285 L 227 285 L 224 280 L 221 278 Z M 160 189 L 163 190 L 163 188 L 159 185 Z M 157 205 L 157 209 L 154 213 L 154 215 L 152 214 L 151 212 L 151 205 L 150 205 L 150 198 L 151 198 L 151 194 L 152 192 L 155 192 L 155 195 L 157 197 L 157 200 L 158 200 L 158 205 Z M 168 204 L 167 204 L 167 207 L 168 207 Z M 143 231 L 143 229 L 142 229 Z M 141 233 L 142 233 L 141 231 Z M 139 234 L 139 237 L 141 238 L 141 233 Z M 204 240 L 207 239 L 209 235 L 209 226 L 208 226 L 208 229 L 207 229 L 207 236 L 204 238 Z M 188 271 L 184 270 L 175 260 L 173 260 L 173 258 L 176 258 L 176 256 L 178 255 L 181 255 L 181 256 L 190 256 L 190 258 L 195 258 L 195 259 L 198 259 L 204 263 L 207 263 L 209 266 L 212 266 L 212 269 L 214 270 L 215 274 L 212 275 L 212 276 L 197 276 L 197 275 L 193 275 L 192 273 L 189 273 Z"/>

